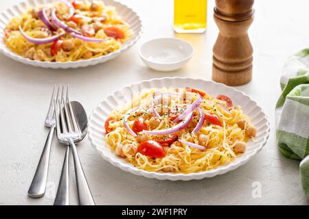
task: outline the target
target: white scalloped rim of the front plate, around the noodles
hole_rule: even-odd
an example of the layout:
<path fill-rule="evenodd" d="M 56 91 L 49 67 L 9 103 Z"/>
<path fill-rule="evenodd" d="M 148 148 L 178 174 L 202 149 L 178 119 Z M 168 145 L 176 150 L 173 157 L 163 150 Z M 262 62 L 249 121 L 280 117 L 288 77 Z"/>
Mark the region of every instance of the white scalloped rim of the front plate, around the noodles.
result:
<path fill-rule="evenodd" d="M 198 88 L 205 90 L 209 94 L 214 96 L 218 94 L 225 94 L 229 96 L 233 103 L 236 105 L 241 105 L 245 114 L 249 115 L 252 120 L 253 125 L 258 128 L 257 136 L 255 142 L 250 141 L 247 144 L 247 151 L 236 158 L 231 164 L 227 166 L 219 166 L 214 170 L 196 172 L 191 174 L 179 174 L 179 173 L 165 173 L 165 172 L 148 172 L 145 170 L 139 170 L 135 168 L 132 164 L 121 157 L 118 157 L 114 153 L 111 153 L 111 149 L 108 148 L 104 140 L 105 129 L 104 123 L 108 115 L 111 113 L 117 105 L 121 103 L 130 102 L 131 94 L 138 92 L 139 90 L 144 90 L 147 88 Z M 249 96 L 244 94 L 235 88 L 225 86 L 222 83 L 216 83 L 214 81 L 204 81 L 202 79 L 190 79 L 181 77 L 164 77 L 160 79 L 151 79 L 149 81 L 141 81 L 140 83 L 133 84 L 132 86 L 122 88 L 108 96 L 98 107 L 93 110 L 89 118 L 89 140 L 93 147 L 102 155 L 104 159 L 117 166 L 126 172 L 131 172 L 135 175 L 141 175 L 147 178 L 155 179 L 169 179 L 172 181 L 176 180 L 192 180 L 192 179 L 203 179 L 207 177 L 214 177 L 216 175 L 224 174 L 231 170 L 235 170 L 239 166 L 247 163 L 253 155 L 257 154 L 262 150 L 262 147 L 266 144 L 270 131 L 270 126 L 266 114 L 264 114 L 262 108 L 253 101 Z"/>

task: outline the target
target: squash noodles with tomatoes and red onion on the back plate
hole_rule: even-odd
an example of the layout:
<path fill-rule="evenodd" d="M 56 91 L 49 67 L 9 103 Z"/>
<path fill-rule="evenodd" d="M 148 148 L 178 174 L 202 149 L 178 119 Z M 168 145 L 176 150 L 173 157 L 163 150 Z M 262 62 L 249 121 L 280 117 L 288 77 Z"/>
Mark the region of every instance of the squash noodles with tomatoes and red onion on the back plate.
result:
<path fill-rule="evenodd" d="M 47 20 L 40 16 L 43 10 Z M 56 20 L 68 28 L 54 22 L 53 10 L 56 11 Z M 78 36 L 74 37 L 70 29 Z M 59 39 L 46 44 L 33 43 L 27 39 L 45 40 L 61 34 L 63 36 Z M 132 35 L 128 23 L 117 14 L 115 8 L 104 5 L 102 1 L 74 1 L 72 4 L 58 1 L 29 8 L 12 18 L 5 27 L 4 42 L 14 53 L 30 60 L 74 62 L 113 53 Z"/>

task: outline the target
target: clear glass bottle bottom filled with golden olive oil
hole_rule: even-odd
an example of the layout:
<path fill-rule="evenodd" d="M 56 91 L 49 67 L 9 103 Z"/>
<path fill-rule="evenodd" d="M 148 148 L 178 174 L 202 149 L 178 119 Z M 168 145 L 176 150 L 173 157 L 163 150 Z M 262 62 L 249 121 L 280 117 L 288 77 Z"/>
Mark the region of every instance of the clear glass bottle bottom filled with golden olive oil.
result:
<path fill-rule="evenodd" d="M 174 0 L 174 31 L 203 33 L 207 25 L 207 0 Z"/>

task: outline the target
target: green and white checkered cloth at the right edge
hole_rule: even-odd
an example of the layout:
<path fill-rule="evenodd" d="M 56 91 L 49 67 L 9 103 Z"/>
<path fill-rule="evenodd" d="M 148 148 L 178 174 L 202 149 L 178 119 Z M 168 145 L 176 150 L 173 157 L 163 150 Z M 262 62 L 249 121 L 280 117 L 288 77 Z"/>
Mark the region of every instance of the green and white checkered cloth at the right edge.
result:
<path fill-rule="evenodd" d="M 288 59 L 280 83 L 275 110 L 279 150 L 301 160 L 301 183 L 309 198 L 309 49 Z"/>

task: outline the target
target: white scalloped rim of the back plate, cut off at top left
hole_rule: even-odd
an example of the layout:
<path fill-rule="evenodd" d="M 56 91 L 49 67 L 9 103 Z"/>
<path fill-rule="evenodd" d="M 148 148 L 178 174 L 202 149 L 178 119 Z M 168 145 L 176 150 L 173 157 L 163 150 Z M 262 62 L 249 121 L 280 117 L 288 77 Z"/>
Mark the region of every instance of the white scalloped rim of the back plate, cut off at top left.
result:
<path fill-rule="evenodd" d="M 73 0 L 72 0 L 73 1 Z M 38 66 L 42 68 L 79 68 L 79 67 L 86 67 L 86 66 L 93 66 L 95 64 L 100 64 L 103 62 L 106 62 L 108 60 L 112 60 L 113 58 L 120 55 L 120 53 L 123 53 L 124 51 L 128 50 L 130 47 L 139 40 L 141 37 L 141 34 L 143 32 L 143 27 L 141 25 L 141 19 L 137 15 L 136 12 L 134 12 L 132 9 L 128 8 L 126 5 L 122 5 L 122 3 L 119 3 L 117 1 L 113 0 L 102 0 L 105 5 L 111 5 L 114 6 L 117 10 L 117 12 L 126 20 L 126 22 L 130 25 L 130 29 L 133 30 L 134 34 L 128 42 L 125 42 L 122 44 L 122 47 L 115 51 L 114 53 L 109 53 L 108 55 L 104 55 L 101 57 L 97 57 L 91 60 L 79 60 L 76 62 L 39 62 L 36 60 L 30 60 L 25 57 L 21 57 L 20 55 L 10 51 L 8 47 L 3 42 L 4 37 L 4 29 L 5 26 L 8 24 L 8 22 L 14 17 L 21 14 L 23 11 L 25 11 L 29 7 L 34 7 L 36 5 L 42 5 L 46 3 L 52 3 L 56 2 L 55 0 L 27 0 L 23 1 L 19 4 L 16 4 L 12 6 L 11 8 L 8 8 L 4 12 L 1 12 L 0 14 L 0 51 L 4 55 L 12 58 L 13 60 L 17 62 L 22 62 L 23 64 L 28 64 L 32 66 Z"/>

